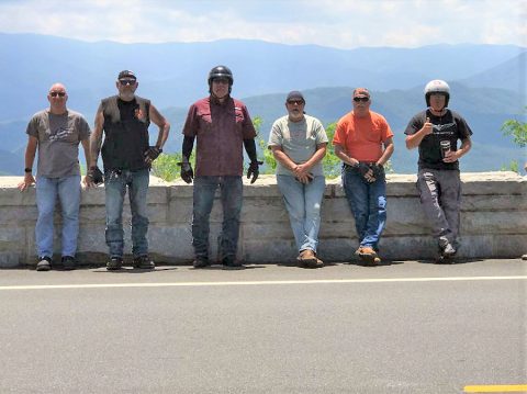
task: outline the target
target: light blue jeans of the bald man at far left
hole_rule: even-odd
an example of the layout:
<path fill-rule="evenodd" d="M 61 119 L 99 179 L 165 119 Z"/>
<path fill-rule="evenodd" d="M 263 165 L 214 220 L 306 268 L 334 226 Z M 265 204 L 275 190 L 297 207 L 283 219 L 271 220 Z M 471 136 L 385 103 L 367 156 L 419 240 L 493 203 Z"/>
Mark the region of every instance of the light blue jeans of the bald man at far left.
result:
<path fill-rule="evenodd" d="M 35 239 L 38 257 L 53 257 L 53 216 L 57 196 L 63 212 L 63 256 L 75 257 L 79 235 L 80 176 L 36 178 Z"/>

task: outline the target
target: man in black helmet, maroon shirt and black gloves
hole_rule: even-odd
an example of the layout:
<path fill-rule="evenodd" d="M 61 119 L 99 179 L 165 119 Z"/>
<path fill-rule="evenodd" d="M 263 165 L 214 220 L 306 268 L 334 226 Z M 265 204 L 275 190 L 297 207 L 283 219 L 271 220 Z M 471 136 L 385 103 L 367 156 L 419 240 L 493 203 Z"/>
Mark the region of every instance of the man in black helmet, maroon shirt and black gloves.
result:
<path fill-rule="evenodd" d="M 210 266 L 209 216 L 214 193 L 220 187 L 223 205 L 223 225 L 218 238 L 218 256 L 225 268 L 242 269 L 236 260 L 239 235 L 239 214 L 243 201 L 242 146 L 250 159 L 247 178 L 254 183 L 258 178 L 256 156 L 256 130 L 249 112 L 242 101 L 231 98 L 233 74 L 225 66 L 216 66 L 209 72 L 210 95 L 193 103 L 183 126 L 181 178 L 194 180 L 192 245 L 194 268 Z M 198 139 L 195 178 L 189 161 L 194 138 Z"/>

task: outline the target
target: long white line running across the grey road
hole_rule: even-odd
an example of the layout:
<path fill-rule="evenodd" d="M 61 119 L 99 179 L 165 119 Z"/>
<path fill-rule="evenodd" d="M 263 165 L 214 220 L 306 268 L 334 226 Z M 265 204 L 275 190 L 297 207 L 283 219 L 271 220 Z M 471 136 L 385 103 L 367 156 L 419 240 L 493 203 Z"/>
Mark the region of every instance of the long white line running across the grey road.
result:
<path fill-rule="evenodd" d="M 452 278 L 382 278 L 382 279 L 319 279 L 282 281 L 224 281 L 224 282 L 147 282 L 147 283 L 79 283 L 79 284 L 25 284 L 0 285 L 2 290 L 52 290 L 52 289 L 101 289 L 101 288 L 184 288 L 184 286 L 247 286 L 283 284 L 345 284 L 345 283 L 390 283 L 390 282 L 452 282 L 452 281 L 497 281 L 526 280 L 518 277 L 452 277 Z"/>

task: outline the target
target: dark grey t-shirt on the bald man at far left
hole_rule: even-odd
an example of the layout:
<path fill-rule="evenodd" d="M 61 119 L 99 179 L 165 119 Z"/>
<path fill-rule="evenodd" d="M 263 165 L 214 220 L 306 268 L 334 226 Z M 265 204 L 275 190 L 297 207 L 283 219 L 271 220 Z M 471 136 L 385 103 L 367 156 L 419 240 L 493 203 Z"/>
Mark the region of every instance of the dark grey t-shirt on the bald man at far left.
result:
<path fill-rule="evenodd" d="M 26 133 L 38 139 L 37 175 L 61 178 L 80 175 L 79 143 L 90 137 L 85 117 L 67 110 L 55 115 L 43 110 L 33 115 Z"/>

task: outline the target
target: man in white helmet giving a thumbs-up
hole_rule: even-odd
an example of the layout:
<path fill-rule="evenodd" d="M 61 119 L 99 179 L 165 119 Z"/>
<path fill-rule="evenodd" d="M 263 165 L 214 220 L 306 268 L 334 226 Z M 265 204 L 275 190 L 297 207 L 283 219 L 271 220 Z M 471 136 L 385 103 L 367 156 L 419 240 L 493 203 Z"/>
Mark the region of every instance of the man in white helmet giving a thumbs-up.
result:
<path fill-rule="evenodd" d="M 425 99 L 428 108 L 412 117 L 404 134 L 408 149 L 419 148 L 417 189 L 437 238 L 438 261 L 444 261 L 452 258 L 459 248 L 459 159 L 472 146 L 472 131 L 460 114 L 448 109 L 447 82 L 428 82 Z M 459 147 L 458 139 L 461 140 Z"/>

